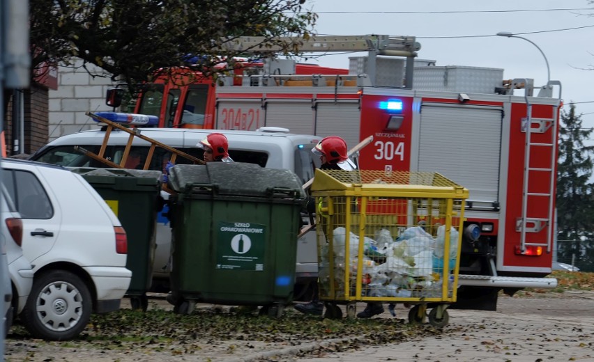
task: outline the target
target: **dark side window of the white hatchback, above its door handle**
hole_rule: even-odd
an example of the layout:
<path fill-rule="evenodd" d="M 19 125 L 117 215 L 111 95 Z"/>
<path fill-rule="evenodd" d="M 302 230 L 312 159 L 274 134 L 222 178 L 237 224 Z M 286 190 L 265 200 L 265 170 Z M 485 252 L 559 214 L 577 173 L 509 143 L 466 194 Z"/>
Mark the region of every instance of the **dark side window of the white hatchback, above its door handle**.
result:
<path fill-rule="evenodd" d="M 23 219 L 51 219 L 54 209 L 36 175 L 27 171 L 3 170 L 3 182 Z"/>

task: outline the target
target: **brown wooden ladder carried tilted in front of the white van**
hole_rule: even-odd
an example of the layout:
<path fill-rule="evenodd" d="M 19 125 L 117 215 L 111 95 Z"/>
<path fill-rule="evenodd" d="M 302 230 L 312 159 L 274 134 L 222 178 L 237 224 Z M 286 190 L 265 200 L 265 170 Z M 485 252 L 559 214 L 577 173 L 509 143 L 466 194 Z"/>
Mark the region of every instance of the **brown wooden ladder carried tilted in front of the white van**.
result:
<path fill-rule="evenodd" d="M 101 162 L 102 164 L 106 164 L 109 167 L 113 167 L 113 168 L 123 168 L 124 167 L 125 162 L 128 159 L 128 155 L 130 154 L 130 148 L 132 148 L 132 140 L 134 140 L 135 137 L 138 137 L 139 139 L 144 139 L 144 141 L 151 143 L 151 147 L 148 148 L 146 160 L 144 161 L 144 166 L 142 167 L 143 170 L 148 170 L 148 167 L 151 165 L 151 160 L 153 159 L 153 153 L 155 152 L 156 147 L 160 147 L 160 148 L 163 148 L 163 149 L 171 152 L 169 161 L 171 161 L 173 164 L 175 163 L 177 157 L 183 157 L 185 159 L 188 159 L 191 162 L 193 162 L 194 164 L 204 164 L 204 161 L 202 161 L 201 159 L 198 159 L 197 157 L 188 155 L 187 153 L 182 152 L 180 150 L 176 150 L 175 148 L 172 148 L 172 147 L 166 145 L 165 143 L 161 143 L 159 141 L 151 139 L 150 137 L 143 136 L 141 129 L 124 127 L 123 125 L 120 125 L 119 123 L 112 122 L 111 120 L 107 120 L 106 118 L 103 118 L 103 117 L 98 116 L 95 113 L 91 113 L 91 112 L 86 112 L 86 116 L 93 118 L 98 123 L 105 123 L 105 125 L 106 125 L 105 136 L 103 136 L 103 142 L 101 143 L 101 148 L 99 149 L 99 153 L 97 153 L 97 154 L 93 153 L 89 150 L 86 150 L 80 146 L 75 146 L 75 150 L 77 150 L 78 152 L 81 152 L 83 155 L 85 155 L 87 157 L 91 157 L 92 159 L 95 159 L 96 161 Z M 124 148 L 121 162 L 119 164 L 109 161 L 109 159 L 105 159 L 105 150 L 107 149 L 107 143 L 109 142 L 109 136 L 112 134 L 112 130 L 114 128 L 130 134 L 130 136 L 128 137 L 128 142 L 126 143 L 125 148 Z M 165 184 L 162 185 L 162 189 L 163 189 L 163 191 L 169 192 L 169 194 L 173 193 L 173 191 L 168 189 Z"/>

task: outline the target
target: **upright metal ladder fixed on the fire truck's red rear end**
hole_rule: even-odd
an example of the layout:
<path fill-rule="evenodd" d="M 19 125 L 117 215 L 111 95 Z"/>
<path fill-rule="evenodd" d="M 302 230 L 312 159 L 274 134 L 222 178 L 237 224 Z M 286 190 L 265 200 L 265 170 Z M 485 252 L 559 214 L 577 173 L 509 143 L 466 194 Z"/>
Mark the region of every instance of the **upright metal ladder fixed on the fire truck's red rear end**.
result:
<path fill-rule="evenodd" d="M 526 81 L 526 79 L 524 79 Z M 547 253 L 551 252 L 552 236 L 551 228 L 553 227 L 553 201 L 554 201 L 554 180 L 555 180 L 555 164 L 556 164 L 556 144 L 557 144 L 557 123 L 558 123 L 558 108 L 561 102 L 561 82 L 560 81 L 549 81 L 547 88 L 553 85 L 559 86 L 559 97 L 557 104 L 552 109 L 551 118 L 533 118 L 532 117 L 532 104 L 528 100 L 528 93 L 524 93 L 526 100 L 526 118 L 522 120 L 521 132 L 526 132 L 526 143 L 524 152 L 524 184 L 522 185 L 522 201 L 521 201 L 521 216 L 516 219 L 516 231 L 521 233 L 520 237 L 520 251 L 521 253 L 526 252 L 526 246 L 546 246 Z M 550 143 L 538 143 L 533 142 L 532 135 L 535 133 L 545 133 L 551 129 L 551 141 Z M 531 151 L 536 148 L 549 148 L 551 155 L 551 164 L 547 168 L 533 167 L 530 165 Z M 530 176 L 535 174 L 547 173 L 549 175 L 549 189 L 547 192 L 531 192 L 528 190 L 528 181 Z M 528 202 L 533 198 L 548 198 L 549 206 L 547 210 L 547 217 L 531 217 L 528 215 Z M 526 233 L 540 233 L 542 229 L 546 228 L 547 242 L 526 242 Z"/>

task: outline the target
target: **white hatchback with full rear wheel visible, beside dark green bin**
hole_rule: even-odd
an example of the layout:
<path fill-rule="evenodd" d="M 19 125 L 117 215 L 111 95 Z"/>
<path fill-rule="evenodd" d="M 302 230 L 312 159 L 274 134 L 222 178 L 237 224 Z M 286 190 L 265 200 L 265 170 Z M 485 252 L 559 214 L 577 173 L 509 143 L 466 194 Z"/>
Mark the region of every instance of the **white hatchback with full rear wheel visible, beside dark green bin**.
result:
<path fill-rule="evenodd" d="M 23 221 L 33 288 L 20 317 L 33 336 L 75 338 L 91 312 L 120 308 L 132 272 L 114 212 L 80 175 L 61 166 L 3 159 L 3 183 Z"/>

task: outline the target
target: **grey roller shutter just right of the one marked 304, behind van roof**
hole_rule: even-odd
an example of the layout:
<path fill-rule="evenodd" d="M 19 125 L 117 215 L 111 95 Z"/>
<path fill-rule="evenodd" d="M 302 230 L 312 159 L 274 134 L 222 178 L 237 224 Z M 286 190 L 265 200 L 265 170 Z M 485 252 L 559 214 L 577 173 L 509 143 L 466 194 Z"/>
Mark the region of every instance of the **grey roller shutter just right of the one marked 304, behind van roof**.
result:
<path fill-rule="evenodd" d="M 266 127 L 284 127 L 295 134 L 314 134 L 312 100 L 266 100 Z"/>

